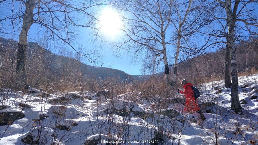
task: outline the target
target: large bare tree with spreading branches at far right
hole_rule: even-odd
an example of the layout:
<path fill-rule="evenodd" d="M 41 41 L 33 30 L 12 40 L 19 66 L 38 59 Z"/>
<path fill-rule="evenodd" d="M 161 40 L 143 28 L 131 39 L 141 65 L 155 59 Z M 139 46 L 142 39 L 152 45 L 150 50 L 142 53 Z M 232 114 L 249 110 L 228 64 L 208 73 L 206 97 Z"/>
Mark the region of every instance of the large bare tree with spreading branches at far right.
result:
<path fill-rule="evenodd" d="M 231 0 L 216 0 L 214 3 L 216 9 L 219 9 L 219 13 L 214 15 L 217 20 L 217 24 L 221 25 L 222 30 L 213 30 L 211 36 L 215 36 L 218 42 L 226 44 L 226 56 L 225 56 L 225 84 L 227 87 L 230 85 L 229 70 L 229 59 L 230 58 L 230 68 L 232 77 L 232 88 L 231 88 L 231 109 L 235 112 L 241 111 L 242 107 L 239 102 L 238 96 L 238 73 L 237 73 L 237 63 L 236 63 L 236 47 L 235 43 L 237 41 L 245 41 L 247 36 L 257 36 L 257 15 L 255 14 L 255 7 L 257 1 L 231 1 Z M 221 12 L 225 10 L 225 16 Z M 223 32 L 226 31 L 227 32 Z M 223 40 L 226 38 L 226 40 Z M 222 41 L 221 41 L 222 40 Z M 228 53 L 229 52 L 229 53 Z"/>

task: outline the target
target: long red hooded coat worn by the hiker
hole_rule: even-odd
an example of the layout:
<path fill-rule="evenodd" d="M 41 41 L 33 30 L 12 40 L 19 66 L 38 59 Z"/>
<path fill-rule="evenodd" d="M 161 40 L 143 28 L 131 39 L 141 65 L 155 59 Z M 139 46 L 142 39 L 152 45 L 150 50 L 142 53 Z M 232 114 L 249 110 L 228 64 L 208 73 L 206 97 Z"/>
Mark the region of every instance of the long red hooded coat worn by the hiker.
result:
<path fill-rule="evenodd" d="M 184 94 L 185 97 L 185 109 L 187 113 L 196 112 L 201 110 L 198 105 L 198 100 L 194 98 L 193 86 L 191 83 L 187 83 L 183 86 L 184 91 L 179 91 L 179 93 Z"/>

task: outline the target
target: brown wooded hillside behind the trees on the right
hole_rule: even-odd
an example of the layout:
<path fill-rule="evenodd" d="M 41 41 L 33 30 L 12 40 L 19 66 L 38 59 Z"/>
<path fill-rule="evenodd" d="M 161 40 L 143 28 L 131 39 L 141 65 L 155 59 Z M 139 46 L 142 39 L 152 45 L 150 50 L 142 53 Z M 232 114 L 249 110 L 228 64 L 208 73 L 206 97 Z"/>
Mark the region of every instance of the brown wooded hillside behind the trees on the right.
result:
<path fill-rule="evenodd" d="M 179 64 L 178 80 L 187 78 L 195 84 L 223 80 L 225 73 L 224 54 L 226 48 L 203 54 Z M 237 71 L 241 75 L 258 72 L 258 40 L 236 44 Z"/>

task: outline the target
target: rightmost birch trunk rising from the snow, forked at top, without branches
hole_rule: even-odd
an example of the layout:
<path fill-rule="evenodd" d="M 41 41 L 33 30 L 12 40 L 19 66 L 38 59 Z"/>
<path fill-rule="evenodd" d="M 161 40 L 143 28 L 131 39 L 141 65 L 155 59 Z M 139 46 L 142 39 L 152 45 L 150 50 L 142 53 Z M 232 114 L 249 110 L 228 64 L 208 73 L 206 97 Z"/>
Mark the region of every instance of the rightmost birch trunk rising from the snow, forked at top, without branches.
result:
<path fill-rule="evenodd" d="M 234 26 L 236 20 L 236 9 L 238 7 L 239 0 L 234 4 L 234 9 L 232 12 L 231 9 L 231 0 L 225 0 L 225 9 L 227 14 L 228 22 L 228 36 L 227 36 L 227 45 L 230 53 L 230 68 L 231 68 L 231 77 L 232 77 L 232 88 L 231 88 L 231 109 L 235 112 L 241 111 L 242 107 L 239 101 L 238 95 L 238 76 L 237 76 L 237 66 L 236 66 L 236 47 L 234 46 Z"/>

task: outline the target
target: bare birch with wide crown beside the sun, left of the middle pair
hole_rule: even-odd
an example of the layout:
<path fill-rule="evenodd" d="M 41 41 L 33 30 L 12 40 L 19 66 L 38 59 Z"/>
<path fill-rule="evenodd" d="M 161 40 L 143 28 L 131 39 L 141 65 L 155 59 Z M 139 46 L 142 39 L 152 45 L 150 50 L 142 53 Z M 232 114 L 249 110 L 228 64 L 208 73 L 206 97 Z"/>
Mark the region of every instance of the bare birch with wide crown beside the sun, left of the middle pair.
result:
<path fill-rule="evenodd" d="M 144 0 L 144 1 L 119 1 L 117 7 L 126 16 L 122 16 L 125 39 L 120 44 L 115 44 L 125 51 L 134 51 L 138 55 L 141 52 L 151 50 L 153 54 L 159 56 L 157 63 L 164 62 L 165 84 L 169 82 L 169 64 L 167 60 L 167 47 L 171 44 L 167 39 L 171 24 L 172 1 L 170 0 Z"/>

